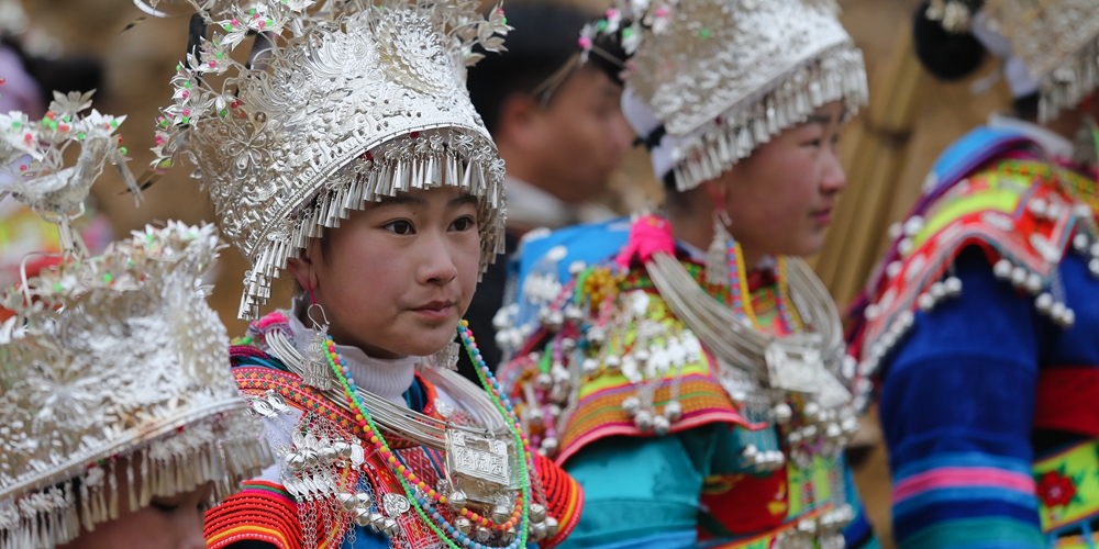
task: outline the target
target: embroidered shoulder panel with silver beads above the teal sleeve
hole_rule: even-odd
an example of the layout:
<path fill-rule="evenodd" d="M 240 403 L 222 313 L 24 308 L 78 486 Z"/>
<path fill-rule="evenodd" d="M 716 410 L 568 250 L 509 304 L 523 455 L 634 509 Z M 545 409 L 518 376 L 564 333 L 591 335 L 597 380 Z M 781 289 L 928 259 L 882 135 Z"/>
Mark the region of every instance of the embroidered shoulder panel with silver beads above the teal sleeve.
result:
<path fill-rule="evenodd" d="M 701 267 L 685 265 L 701 280 Z M 707 288 L 729 299 L 728 288 Z M 607 305 L 590 311 L 591 303 Z M 719 379 L 713 358 L 643 268 L 585 269 L 554 309 L 501 377 L 520 403 L 532 444 L 557 463 L 608 436 L 663 435 L 715 422 L 750 426 L 723 386 L 735 391 L 737 380 Z"/>

